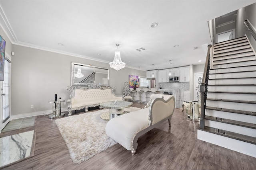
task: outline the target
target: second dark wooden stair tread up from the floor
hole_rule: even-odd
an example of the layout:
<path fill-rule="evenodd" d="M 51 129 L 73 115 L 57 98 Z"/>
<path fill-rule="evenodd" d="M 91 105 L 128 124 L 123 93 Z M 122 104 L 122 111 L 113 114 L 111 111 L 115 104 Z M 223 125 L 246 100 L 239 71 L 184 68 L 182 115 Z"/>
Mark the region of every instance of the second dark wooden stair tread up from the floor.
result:
<path fill-rule="evenodd" d="M 248 127 L 252 129 L 256 129 L 256 125 L 253 123 L 247 123 L 247 122 L 242 122 L 242 121 L 235 121 L 235 120 L 230 120 L 230 119 L 224 119 L 220 117 L 212 117 L 212 116 L 205 116 L 204 119 L 211 120 L 211 121 L 218 121 L 221 123 L 227 123 L 231 125 L 238 125 L 242 127 Z"/>

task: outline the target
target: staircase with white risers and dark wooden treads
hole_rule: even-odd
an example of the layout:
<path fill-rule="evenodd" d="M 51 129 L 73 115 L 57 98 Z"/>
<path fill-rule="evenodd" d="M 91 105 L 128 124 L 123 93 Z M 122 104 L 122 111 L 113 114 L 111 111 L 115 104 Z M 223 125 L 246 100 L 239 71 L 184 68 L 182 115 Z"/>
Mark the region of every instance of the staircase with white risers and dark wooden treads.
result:
<path fill-rule="evenodd" d="M 247 37 L 214 45 L 198 139 L 256 157 L 256 56 Z"/>

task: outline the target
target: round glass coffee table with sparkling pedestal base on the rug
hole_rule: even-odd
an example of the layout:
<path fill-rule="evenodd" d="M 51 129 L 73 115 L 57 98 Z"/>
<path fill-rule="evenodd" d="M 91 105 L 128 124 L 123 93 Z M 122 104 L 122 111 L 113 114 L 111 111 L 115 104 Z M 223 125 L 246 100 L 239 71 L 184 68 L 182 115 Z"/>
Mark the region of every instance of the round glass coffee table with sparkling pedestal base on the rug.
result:
<path fill-rule="evenodd" d="M 104 102 L 100 104 L 100 109 L 109 109 L 109 111 L 102 113 L 100 115 L 100 118 L 104 120 L 110 120 L 114 117 L 117 117 L 119 115 L 122 115 L 126 113 L 124 111 L 124 108 L 131 107 L 132 102 L 126 102 L 126 101 L 112 101 L 112 102 Z"/>

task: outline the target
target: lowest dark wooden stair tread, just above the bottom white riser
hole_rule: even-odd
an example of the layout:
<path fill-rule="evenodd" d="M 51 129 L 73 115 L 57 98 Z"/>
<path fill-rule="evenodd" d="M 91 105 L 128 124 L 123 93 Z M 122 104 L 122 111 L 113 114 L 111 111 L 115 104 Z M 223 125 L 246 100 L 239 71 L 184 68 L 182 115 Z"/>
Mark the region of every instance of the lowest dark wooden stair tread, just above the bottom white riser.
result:
<path fill-rule="evenodd" d="M 224 136 L 224 137 L 229 137 L 229 138 L 232 138 L 232 139 L 236 139 L 236 140 L 239 140 L 239 141 L 243 141 L 243 142 L 247 142 L 247 143 L 251 143 L 251 144 L 256 145 L 256 138 L 255 137 L 250 137 L 250 136 L 247 136 L 247 135 L 242 135 L 242 134 L 234 133 L 234 132 L 230 132 L 230 131 L 224 131 L 225 134 L 222 134 L 222 133 L 216 132 L 216 130 L 218 130 L 218 129 L 213 128 L 213 127 L 208 127 L 208 126 L 205 126 L 204 129 L 201 129 L 200 127 L 198 127 L 197 129 L 201 130 L 201 131 L 214 133 L 216 135 L 221 135 L 221 136 Z M 220 130 L 222 130 L 222 129 L 220 129 Z"/>

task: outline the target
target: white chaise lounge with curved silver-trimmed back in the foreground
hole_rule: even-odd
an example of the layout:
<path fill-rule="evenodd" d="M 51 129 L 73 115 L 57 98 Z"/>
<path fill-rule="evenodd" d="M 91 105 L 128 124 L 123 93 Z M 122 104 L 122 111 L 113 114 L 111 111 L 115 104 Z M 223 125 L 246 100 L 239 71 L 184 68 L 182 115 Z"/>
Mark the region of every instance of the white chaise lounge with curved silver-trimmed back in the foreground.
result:
<path fill-rule="evenodd" d="M 138 147 L 137 140 L 140 136 L 167 119 L 171 127 L 174 107 L 174 96 L 152 94 L 146 108 L 120 115 L 108 121 L 105 127 L 106 135 L 135 154 Z"/>

